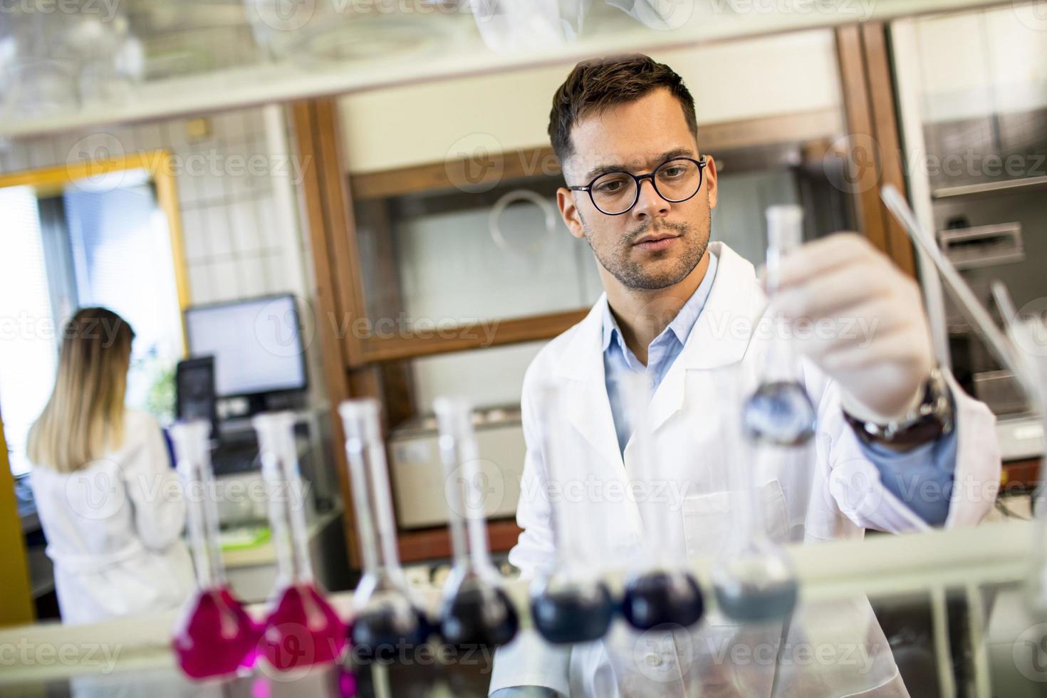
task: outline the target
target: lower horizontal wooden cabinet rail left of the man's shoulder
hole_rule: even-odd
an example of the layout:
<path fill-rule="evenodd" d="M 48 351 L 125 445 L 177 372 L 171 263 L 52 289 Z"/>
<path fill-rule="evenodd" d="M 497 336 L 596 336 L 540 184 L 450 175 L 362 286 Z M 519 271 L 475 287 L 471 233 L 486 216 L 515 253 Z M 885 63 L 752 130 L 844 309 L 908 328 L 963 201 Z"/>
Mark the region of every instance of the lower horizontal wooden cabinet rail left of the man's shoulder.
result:
<path fill-rule="evenodd" d="M 495 327 L 489 335 L 482 322 L 469 322 L 441 330 L 439 335 L 443 336 L 433 330 L 424 335 L 370 338 L 363 341 L 361 355 L 355 361 L 350 358 L 350 366 L 552 339 L 580 322 L 586 313 L 588 309 L 491 320 Z"/>

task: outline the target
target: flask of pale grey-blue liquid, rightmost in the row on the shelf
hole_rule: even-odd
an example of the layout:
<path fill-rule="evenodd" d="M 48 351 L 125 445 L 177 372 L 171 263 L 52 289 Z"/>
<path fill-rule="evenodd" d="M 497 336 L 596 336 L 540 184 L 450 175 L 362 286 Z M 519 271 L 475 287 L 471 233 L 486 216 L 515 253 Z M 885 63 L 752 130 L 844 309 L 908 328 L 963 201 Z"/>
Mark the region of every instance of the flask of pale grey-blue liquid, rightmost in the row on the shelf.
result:
<path fill-rule="evenodd" d="M 780 457 L 780 446 L 755 444 L 741 427 L 741 371 L 729 366 L 715 371 L 716 397 L 728 414 L 723 441 L 732 493 L 732 535 L 712 567 L 713 592 L 720 611 L 739 623 L 783 621 L 796 607 L 798 584 L 784 548 L 766 533 L 763 502 L 757 486 L 767 466 Z"/>

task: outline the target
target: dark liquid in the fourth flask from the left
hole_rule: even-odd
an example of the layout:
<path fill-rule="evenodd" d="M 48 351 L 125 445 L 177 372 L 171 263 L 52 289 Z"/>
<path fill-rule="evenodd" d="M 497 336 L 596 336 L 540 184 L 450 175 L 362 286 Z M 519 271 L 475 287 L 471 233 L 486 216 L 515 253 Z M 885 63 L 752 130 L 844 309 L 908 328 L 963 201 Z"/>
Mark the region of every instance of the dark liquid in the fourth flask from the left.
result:
<path fill-rule="evenodd" d="M 444 606 L 440 634 L 451 645 L 497 647 L 516 636 L 519 617 L 500 588 L 466 582 Z"/>

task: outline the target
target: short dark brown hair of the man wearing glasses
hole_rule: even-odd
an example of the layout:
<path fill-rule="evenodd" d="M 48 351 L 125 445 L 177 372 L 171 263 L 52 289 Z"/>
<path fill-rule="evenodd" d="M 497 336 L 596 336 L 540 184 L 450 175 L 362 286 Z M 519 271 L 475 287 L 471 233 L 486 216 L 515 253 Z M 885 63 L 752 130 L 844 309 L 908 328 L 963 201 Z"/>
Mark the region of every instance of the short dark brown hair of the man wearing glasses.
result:
<path fill-rule="evenodd" d="M 579 119 L 640 99 L 661 87 L 668 88 L 680 100 L 687 126 L 697 137 L 694 97 L 684 80 L 664 63 L 636 53 L 582 61 L 576 65 L 553 95 L 553 110 L 549 113 L 549 139 L 560 164 L 574 153 L 571 129 Z"/>

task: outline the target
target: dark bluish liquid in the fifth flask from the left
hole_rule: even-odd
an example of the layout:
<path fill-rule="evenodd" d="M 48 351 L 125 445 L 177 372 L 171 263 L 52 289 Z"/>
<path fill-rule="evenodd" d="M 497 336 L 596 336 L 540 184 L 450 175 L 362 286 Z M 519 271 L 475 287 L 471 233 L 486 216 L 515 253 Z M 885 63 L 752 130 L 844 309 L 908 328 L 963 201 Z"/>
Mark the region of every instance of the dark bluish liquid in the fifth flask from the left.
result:
<path fill-rule="evenodd" d="M 554 645 L 600 639 L 607 632 L 614 614 L 615 603 L 602 583 L 592 588 L 547 590 L 531 600 L 535 627 Z"/>

